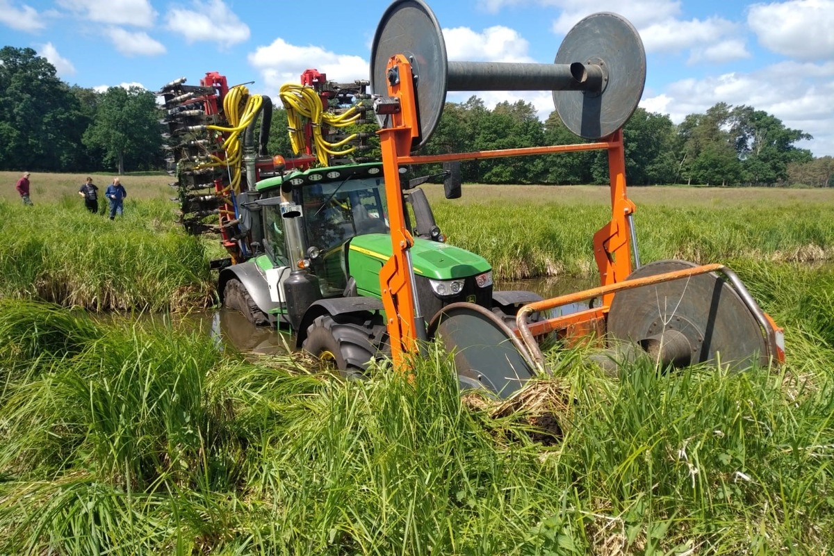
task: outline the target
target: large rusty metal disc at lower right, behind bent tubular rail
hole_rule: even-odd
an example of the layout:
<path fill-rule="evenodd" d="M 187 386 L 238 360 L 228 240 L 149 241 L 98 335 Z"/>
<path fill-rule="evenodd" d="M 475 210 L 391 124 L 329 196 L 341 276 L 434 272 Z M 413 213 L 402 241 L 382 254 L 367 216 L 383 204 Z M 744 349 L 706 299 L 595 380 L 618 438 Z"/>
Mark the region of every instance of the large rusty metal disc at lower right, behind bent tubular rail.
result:
<path fill-rule="evenodd" d="M 631 273 L 643 278 L 696 267 L 686 261 L 657 261 Z M 686 345 L 689 363 L 729 364 L 733 370 L 769 363 L 764 333 L 736 290 L 716 273 L 699 274 L 615 293 L 608 333 L 636 342 Z"/>

